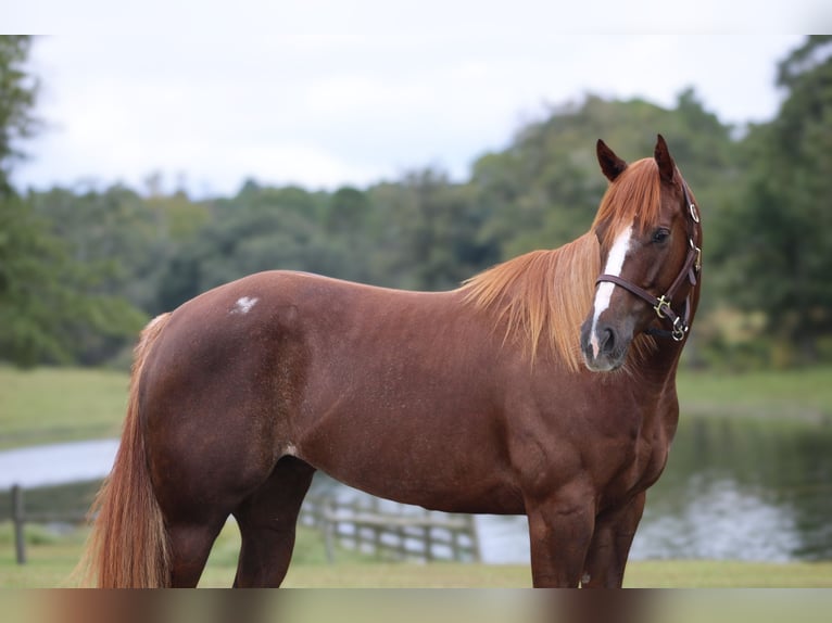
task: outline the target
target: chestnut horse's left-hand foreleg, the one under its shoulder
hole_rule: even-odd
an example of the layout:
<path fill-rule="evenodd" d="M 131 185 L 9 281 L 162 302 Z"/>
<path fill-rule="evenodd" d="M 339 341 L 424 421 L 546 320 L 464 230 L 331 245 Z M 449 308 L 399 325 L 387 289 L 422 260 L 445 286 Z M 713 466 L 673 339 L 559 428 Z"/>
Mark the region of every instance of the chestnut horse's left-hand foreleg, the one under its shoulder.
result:
<path fill-rule="evenodd" d="M 527 512 L 534 587 L 578 587 L 595 519 L 591 495 L 562 490 L 527 501 Z"/>

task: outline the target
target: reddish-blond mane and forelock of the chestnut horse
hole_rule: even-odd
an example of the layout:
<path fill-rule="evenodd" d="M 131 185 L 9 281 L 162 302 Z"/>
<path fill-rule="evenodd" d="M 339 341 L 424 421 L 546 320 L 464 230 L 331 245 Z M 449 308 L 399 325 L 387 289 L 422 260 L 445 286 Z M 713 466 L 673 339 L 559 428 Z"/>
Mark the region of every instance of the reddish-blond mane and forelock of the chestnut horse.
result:
<path fill-rule="evenodd" d="M 650 163 L 653 163 L 652 165 Z M 603 224 L 608 249 L 617 233 L 633 223 L 644 229 L 659 212 L 659 177 L 655 160 L 644 158 L 609 185 L 589 232 L 554 250 L 532 251 L 471 277 L 463 283 L 465 301 L 493 309 L 505 325 L 505 340 L 521 339 L 532 360 L 541 344 L 567 369 L 582 367 L 580 327 L 592 307 L 601 272 L 601 247 L 595 228 Z M 643 357 L 655 342 L 641 335 L 631 357 Z"/>

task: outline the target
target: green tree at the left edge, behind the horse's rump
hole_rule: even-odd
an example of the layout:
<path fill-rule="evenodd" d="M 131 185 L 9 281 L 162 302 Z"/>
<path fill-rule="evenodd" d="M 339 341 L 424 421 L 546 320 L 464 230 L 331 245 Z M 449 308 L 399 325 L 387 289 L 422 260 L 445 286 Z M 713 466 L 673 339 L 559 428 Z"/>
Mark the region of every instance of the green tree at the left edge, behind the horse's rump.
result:
<path fill-rule="evenodd" d="M 21 139 L 37 127 L 28 37 L 0 37 L 0 359 L 20 366 L 100 363 L 144 316 L 102 291 L 104 274 L 70 253 L 11 185 Z"/>

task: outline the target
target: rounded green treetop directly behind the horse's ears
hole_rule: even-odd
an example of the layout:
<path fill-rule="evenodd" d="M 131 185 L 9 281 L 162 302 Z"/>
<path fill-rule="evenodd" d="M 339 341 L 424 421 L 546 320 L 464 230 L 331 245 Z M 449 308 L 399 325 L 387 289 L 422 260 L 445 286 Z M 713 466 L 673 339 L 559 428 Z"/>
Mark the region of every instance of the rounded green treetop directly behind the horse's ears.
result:
<path fill-rule="evenodd" d="M 722 203 L 722 189 L 731 187 L 726 182 L 738 175 L 730 128 L 705 111 L 692 89 L 679 94 L 676 110 L 588 96 L 552 109 L 546 118 L 521 128 L 507 150 L 476 163 L 472 183 L 491 214 L 482 236 L 499 244 L 504 257 L 573 240 L 589 228 L 607 187 L 595 141 L 604 139 L 632 161 L 653 153 L 658 132 L 668 139 L 703 212 Z"/>

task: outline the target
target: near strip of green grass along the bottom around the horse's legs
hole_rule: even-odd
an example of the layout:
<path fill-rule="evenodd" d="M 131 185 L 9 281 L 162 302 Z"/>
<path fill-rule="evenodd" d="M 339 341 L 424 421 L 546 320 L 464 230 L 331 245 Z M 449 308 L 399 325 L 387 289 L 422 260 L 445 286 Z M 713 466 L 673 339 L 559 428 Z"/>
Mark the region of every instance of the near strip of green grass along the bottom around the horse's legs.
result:
<path fill-rule="evenodd" d="M 67 586 L 77 563 L 86 531 L 55 536 L 27 526 L 27 564 L 14 561 L 11 525 L 0 525 L 0 588 Z M 224 587 L 234 581 L 239 551 L 237 529 L 229 524 L 212 550 L 200 586 Z M 349 551 L 339 551 L 328 563 L 320 535 L 300 529 L 292 565 L 283 585 L 314 588 L 461 588 L 531 586 L 526 564 L 472 564 L 455 562 L 382 563 Z M 650 560 L 628 565 L 629 587 L 825 587 L 832 588 L 832 562 L 764 563 L 711 560 Z"/>

